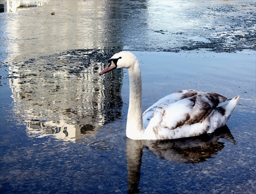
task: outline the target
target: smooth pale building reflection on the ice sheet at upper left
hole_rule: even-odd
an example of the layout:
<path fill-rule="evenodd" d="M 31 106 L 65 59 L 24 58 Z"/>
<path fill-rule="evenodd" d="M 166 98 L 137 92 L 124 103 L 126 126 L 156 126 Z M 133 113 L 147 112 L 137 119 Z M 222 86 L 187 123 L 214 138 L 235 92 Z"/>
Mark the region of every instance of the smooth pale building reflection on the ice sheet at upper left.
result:
<path fill-rule="evenodd" d="M 23 61 L 76 49 L 123 48 L 120 26 L 123 27 L 124 10 L 115 3 L 48 1 L 45 6 L 17 9 L 16 14 L 4 18 L 7 21 L 7 60 Z M 113 22 L 116 13 L 120 18 Z"/>

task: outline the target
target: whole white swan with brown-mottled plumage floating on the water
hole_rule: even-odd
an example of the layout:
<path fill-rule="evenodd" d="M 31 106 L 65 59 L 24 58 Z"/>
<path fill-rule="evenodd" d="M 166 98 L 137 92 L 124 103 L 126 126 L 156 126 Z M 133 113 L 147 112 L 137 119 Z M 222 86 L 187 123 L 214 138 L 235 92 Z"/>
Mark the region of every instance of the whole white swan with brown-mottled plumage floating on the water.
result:
<path fill-rule="evenodd" d="M 179 139 L 212 133 L 224 126 L 239 101 L 212 92 L 181 90 L 169 94 L 142 114 L 141 71 L 137 57 L 129 51 L 114 54 L 103 75 L 118 68 L 127 68 L 130 99 L 126 137 L 134 140 Z"/>

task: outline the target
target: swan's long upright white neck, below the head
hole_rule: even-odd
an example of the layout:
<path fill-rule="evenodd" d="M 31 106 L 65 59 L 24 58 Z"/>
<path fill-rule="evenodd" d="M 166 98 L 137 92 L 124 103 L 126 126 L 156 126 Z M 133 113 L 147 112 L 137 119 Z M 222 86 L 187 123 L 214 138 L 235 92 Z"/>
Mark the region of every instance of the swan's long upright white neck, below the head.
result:
<path fill-rule="evenodd" d="M 142 139 L 144 132 L 142 120 L 142 85 L 138 60 L 133 67 L 128 68 L 130 80 L 130 100 L 126 123 L 126 137 Z"/>

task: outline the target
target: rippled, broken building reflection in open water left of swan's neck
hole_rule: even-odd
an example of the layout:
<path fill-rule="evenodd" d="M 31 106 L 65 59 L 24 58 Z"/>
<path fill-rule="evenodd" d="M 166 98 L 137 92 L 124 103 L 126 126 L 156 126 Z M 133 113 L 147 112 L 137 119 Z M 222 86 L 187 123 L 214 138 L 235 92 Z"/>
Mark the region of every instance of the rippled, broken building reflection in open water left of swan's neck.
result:
<path fill-rule="evenodd" d="M 30 137 L 77 140 L 121 117 L 122 71 L 99 76 L 108 52 L 74 50 L 12 63 L 14 109 Z"/>

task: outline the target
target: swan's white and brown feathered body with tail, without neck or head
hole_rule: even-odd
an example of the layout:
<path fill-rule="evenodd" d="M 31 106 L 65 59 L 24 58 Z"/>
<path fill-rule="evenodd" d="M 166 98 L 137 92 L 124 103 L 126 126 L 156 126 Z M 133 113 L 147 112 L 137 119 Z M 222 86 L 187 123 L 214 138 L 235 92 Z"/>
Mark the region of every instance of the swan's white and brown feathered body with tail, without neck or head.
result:
<path fill-rule="evenodd" d="M 182 90 L 157 101 L 143 113 L 144 139 L 177 139 L 212 133 L 224 126 L 239 96 Z M 155 137 L 154 137 L 155 136 Z"/>

